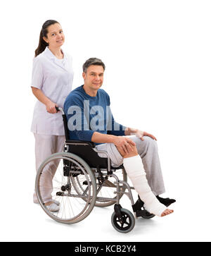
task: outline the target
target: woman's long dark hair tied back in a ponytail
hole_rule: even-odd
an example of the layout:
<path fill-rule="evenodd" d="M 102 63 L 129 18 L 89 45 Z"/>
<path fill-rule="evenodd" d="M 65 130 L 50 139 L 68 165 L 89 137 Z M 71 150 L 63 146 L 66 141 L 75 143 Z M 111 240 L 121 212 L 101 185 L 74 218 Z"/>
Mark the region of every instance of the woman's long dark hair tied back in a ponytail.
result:
<path fill-rule="evenodd" d="M 58 23 L 58 21 L 46 20 L 46 22 L 42 25 L 41 31 L 39 34 L 39 45 L 38 45 L 37 49 L 35 50 L 35 57 L 37 57 L 37 55 L 41 54 L 41 52 L 43 52 L 46 49 L 46 47 L 49 45 L 48 43 L 46 43 L 46 41 L 43 39 L 43 37 L 47 37 L 49 26 L 53 25 L 55 23 Z"/>

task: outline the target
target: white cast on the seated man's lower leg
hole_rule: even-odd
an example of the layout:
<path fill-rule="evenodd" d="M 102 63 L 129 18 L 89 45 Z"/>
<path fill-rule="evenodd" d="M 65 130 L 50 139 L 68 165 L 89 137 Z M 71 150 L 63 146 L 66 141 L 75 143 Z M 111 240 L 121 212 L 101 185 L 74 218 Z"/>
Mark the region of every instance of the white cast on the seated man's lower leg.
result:
<path fill-rule="evenodd" d="M 144 202 L 143 207 L 151 214 L 161 216 L 167 207 L 162 205 L 151 191 L 146 179 L 146 172 L 143 169 L 141 157 L 136 155 L 134 157 L 124 158 L 123 165 L 136 192 Z"/>

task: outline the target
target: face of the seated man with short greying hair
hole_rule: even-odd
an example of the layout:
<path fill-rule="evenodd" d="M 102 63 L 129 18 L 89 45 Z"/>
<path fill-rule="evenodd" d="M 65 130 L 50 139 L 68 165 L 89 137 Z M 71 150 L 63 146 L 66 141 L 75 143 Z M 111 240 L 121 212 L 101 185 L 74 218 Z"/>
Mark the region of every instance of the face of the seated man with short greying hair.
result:
<path fill-rule="evenodd" d="M 84 85 L 89 88 L 89 90 L 98 90 L 101 85 L 103 85 L 103 67 L 91 65 L 87 68 L 87 72 L 83 72 Z"/>

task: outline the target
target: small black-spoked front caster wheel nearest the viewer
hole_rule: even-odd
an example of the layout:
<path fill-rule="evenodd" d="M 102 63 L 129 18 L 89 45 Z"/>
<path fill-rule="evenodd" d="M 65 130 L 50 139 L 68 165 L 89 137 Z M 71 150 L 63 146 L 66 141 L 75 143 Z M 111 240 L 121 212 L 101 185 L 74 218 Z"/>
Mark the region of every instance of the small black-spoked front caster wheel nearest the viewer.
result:
<path fill-rule="evenodd" d="M 122 221 L 117 216 L 117 213 L 113 212 L 111 217 L 111 223 L 115 228 L 115 230 L 121 233 L 128 233 L 129 231 L 132 231 L 132 229 L 135 226 L 134 214 L 132 214 L 132 212 L 129 212 L 128 209 L 124 209 L 124 208 L 121 208 L 121 214 L 122 214 Z"/>

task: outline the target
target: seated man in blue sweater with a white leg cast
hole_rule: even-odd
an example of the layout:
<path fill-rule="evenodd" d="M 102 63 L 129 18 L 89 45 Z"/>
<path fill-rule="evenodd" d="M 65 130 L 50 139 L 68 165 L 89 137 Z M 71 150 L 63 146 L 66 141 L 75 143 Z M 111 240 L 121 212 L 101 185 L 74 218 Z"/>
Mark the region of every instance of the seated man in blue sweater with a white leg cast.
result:
<path fill-rule="evenodd" d="M 84 85 L 72 90 L 65 100 L 70 140 L 95 142 L 97 150 L 108 152 L 112 166 L 123 163 L 139 194 L 136 207 L 142 200 L 143 207 L 151 214 L 161 217 L 171 214 L 173 210 L 167 206 L 175 200 L 159 197 L 165 193 L 165 187 L 156 138 L 115 122 L 110 111 L 110 98 L 100 89 L 104 71 L 105 65 L 100 59 L 88 59 L 83 65 Z M 106 157 L 102 153 L 99 156 Z"/>

